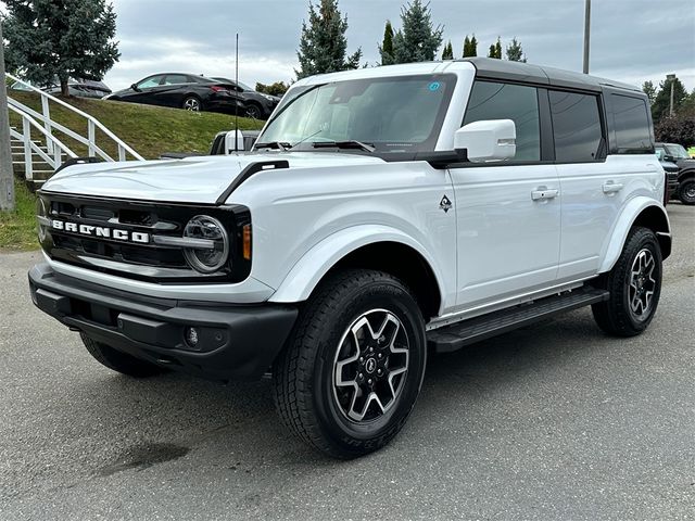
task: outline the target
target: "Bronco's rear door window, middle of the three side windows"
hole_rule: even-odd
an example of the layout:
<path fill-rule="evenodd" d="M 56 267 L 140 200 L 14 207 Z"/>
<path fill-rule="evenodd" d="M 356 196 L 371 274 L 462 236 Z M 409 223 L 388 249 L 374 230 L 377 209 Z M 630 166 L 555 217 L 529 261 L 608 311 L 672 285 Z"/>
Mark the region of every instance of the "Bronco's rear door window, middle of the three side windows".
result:
<path fill-rule="evenodd" d="M 589 162 L 598 158 L 603 131 L 598 98 L 576 92 L 548 92 L 555 138 L 555 161 Z"/>

